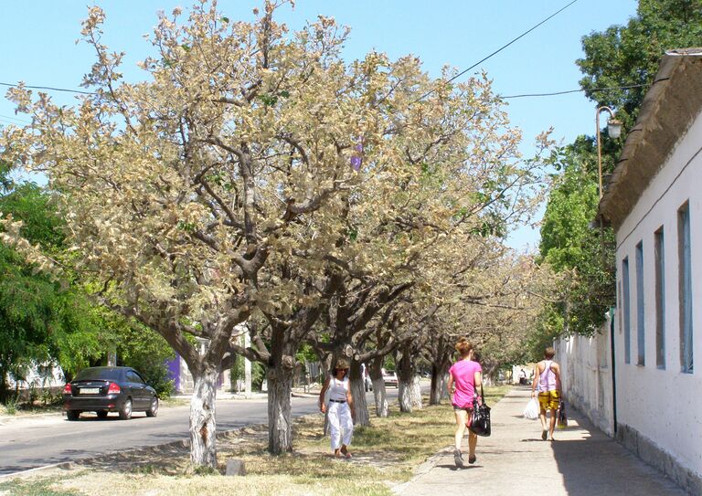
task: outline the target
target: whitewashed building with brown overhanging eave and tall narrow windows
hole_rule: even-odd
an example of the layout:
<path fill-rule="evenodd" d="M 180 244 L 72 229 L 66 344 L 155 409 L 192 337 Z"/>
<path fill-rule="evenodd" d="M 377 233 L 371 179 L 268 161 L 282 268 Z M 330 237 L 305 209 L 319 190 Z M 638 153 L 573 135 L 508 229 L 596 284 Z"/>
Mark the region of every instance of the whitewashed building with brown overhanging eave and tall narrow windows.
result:
<path fill-rule="evenodd" d="M 702 494 L 702 49 L 662 59 L 599 214 L 617 242 L 616 437 Z"/>

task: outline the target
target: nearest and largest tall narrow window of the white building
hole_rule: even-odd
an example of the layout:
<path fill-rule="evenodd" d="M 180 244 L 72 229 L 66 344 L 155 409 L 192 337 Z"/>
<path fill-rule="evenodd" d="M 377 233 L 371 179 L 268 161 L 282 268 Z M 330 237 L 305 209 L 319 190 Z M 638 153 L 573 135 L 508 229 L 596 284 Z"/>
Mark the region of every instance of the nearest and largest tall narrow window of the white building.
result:
<path fill-rule="evenodd" d="M 693 371 L 692 350 L 692 257 L 690 249 L 690 204 L 677 211 L 677 267 L 680 304 L 680 368 Z"/>

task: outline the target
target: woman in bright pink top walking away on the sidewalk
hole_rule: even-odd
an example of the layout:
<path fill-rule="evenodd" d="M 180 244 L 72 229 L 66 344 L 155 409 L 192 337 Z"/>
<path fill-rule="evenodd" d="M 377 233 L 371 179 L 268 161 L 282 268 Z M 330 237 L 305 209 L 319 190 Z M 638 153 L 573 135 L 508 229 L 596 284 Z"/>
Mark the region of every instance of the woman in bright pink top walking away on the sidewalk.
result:
<path fill-rule="evenodd" d="M 473 395 L 475 387 L 483 384 L 483 368 L 477 362 L 473 362 L 473 344 L 465 338 L 461 338 L 456 343 L 456 351 L 461 355 L 461 360 L 452 365 L 449 369 L 448 389 L 453 405 L 453 413 L 456 416 L 456 449 L 453 450 L 453 461 L 456 467 L 463 467 L 463 455 L 461 453 L 461 442 L 465 432 L 466 423 L 473 412 Z M 475 447 L 478 444 L 478 436 L 473 432 L 468 433 L 468 463 L 475 463 Z"/>

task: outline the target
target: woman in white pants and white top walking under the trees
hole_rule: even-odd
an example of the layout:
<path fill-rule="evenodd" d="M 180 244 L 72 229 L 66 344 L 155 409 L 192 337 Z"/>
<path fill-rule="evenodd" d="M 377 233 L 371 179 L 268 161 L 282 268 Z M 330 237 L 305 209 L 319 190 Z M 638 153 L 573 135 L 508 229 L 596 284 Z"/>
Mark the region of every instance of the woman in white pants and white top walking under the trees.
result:
<path fill-rule="evenodd" d="M 329 390 L 329 406 L 324 405 L 324 394 Z M 348 447 L 354 435 L 354 398 L 348 381 L 348 362 L 340 358 L 336 362 L 334 372 L 329 377 L 319 393 L 319 409 L 322 413 L 328 411 L 329 431 L 332 436 L 334 456 L 351 458 Z"/>

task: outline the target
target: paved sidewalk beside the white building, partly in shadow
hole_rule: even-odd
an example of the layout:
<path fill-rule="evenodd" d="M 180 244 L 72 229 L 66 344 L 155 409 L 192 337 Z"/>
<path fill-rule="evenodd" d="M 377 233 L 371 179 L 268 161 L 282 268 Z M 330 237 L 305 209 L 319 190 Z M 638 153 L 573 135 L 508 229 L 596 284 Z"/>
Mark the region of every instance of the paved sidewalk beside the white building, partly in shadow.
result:
<path fill-rule="evenodd" d="M 474 465 L 468 465 L 466 436 L 462 470 L 456 470 L 453 449 L 447 447 L 395 492 L 408 496 L 686 495 L 573 408 L 569 410 L 569 427 L 556 430 L 557 440 L 542 441 L 540 422 L 521 416 L 529 396 L 527 388 L 516 388 L 493 406 L 493 435 L 479 438 Z"/>

